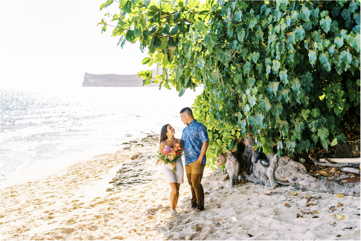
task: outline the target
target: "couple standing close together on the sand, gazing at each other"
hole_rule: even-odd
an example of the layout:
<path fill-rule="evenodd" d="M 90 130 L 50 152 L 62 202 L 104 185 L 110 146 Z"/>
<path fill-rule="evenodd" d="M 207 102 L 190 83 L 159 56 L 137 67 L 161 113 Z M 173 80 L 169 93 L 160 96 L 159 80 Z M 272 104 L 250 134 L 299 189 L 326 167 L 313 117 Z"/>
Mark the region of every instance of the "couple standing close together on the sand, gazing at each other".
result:
<path fill-rule="evenodd" d="M 161 129 L 159 152 L 162 153 L 165 147 L 174 148 L 177 144 L 184 145 L 184 159 L 188 184 L 191 186 L 192 199 L 191 204 L 194 208 L 194 213 L 204 210 L 204 191 L 201 184 L 203 170 L 206 164 L 206 155 L 209 140 L 206 127 L 197 122 L 193 118 L 191 108 L 185 107 L 179 112 L 181 114 L 181 121 L 187 126 L 183 129 L 181 139 L 174 137 L 174 128 L 166 124 Z M 162 163 L 158 159 L 157 164 Z M 173 173 L 173 167 L 177 169 Z M 164 177 L 166 182 L 171 187 L 170 204 L 171 215 L 179 215 L 175 211 L 179 197 L 179 186 L 184 182 L 183 180 L 183 163 L 181 157 L 178 158 L 176 164 L 168 163 L 163 167 Z"/>

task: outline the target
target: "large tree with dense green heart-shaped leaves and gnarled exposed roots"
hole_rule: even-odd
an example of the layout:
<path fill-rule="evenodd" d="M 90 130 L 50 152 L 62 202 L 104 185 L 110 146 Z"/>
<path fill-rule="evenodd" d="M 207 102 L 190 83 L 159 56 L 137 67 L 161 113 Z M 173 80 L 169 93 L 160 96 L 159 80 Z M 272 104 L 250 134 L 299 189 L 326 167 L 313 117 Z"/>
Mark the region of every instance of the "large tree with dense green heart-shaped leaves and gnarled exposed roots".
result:
<path fill-rule="evenodd" d="M 360 1 L 128 0 L 119 9 L 105 14 L 112 23 L 103 19 L 102 33 L 113 25 L 121 47 L 148 51 L 143 64 L 159 71 L 140 72 L 145 85 L 173 86 L 180 96 L 204 85 L 193 108 L 209 130 L 210 151 L 248 147 L 249 155 L 236 156 L 253 167 L 242 173 L 246 180 L 272 185 L 253 149 L 270 160 L 317 145 L 327 150 L 345 143 L 342 126 L 360 123 Z M 287 168 L 283 179 L 278 168 Z M 303 168 L 287 159 L 271 171 L 279 183 L 317 182 L 314 190 L 333 192 L 341 185 L 297 176 Z M 360 193 L 359 184 L 342 188 Z"/>

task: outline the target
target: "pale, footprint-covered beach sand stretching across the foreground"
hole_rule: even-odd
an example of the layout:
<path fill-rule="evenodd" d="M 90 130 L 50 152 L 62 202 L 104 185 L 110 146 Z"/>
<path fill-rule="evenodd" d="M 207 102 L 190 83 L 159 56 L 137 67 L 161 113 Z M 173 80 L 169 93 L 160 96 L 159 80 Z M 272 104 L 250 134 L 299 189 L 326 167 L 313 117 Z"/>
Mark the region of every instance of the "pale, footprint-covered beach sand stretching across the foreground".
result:
<path fill-rule="evenodd" d="M 133 146 L 76 163 L 51 177 L 2 188 L 1 240 L 360 240 L 360 197 L 339 198 L 292 186 L 271 190 L 277 193 L 269 196 L 268 186 L 229 188 L 220 171 L 205 169 L 206 210 L 188 212 L 191 194 L 184 176 L 177 207 L 181 215 L 171 217 L 170 187 L 160 168 L 158 178 L 148 184 L 105 191 L 113 187 L 108 182 L 121 163 L 149 151 L 156 147 Z M 299 194 L 290 196 L 294 192 Z M 307 207 L 309 203 L 315 205 Z M 329 211 L 331 206 L 335 211 Z"/>

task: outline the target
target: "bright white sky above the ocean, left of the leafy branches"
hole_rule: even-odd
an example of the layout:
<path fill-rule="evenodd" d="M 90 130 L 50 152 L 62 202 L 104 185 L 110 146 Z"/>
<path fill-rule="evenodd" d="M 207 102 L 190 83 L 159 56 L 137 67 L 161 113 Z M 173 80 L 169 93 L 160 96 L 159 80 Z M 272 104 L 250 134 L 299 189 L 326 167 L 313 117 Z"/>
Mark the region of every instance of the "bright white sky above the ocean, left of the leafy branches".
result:
<path fill-rule="evenodd" d="M 101 34 L 105 0 L 0 1 L 0 88 L 80 87 L 84 73 L 136 74 L 147 52 L 139 43 L 117 47 L 113 27 Z M 105 17 L 110 23 L 111 18 Z M 112 24 L 112 23 L 110 23 Z"/>

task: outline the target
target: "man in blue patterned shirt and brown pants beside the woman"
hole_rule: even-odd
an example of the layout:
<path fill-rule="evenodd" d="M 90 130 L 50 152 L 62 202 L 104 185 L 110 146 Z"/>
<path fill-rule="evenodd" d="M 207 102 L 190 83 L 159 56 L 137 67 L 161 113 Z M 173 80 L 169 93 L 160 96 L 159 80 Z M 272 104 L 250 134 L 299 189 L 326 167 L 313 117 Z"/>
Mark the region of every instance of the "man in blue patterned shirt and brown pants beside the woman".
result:
<path fill-rule="evenodd" d="M 206 163 L 205 152 L 209 140 L 207 128 L 193 118 L 191 108 L 185 107 L 179 112 L 183 124 L 182 141 L 184 143 L 184 158 L 188 184 L 191 185 L 192 207 L 194 213 L 204 210 L 204 191 L 201 184 L 203 171 Z"/>

